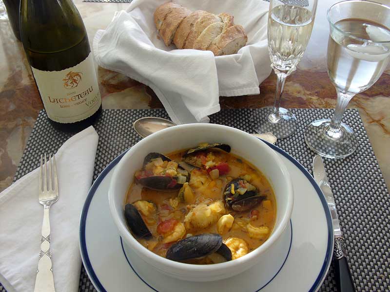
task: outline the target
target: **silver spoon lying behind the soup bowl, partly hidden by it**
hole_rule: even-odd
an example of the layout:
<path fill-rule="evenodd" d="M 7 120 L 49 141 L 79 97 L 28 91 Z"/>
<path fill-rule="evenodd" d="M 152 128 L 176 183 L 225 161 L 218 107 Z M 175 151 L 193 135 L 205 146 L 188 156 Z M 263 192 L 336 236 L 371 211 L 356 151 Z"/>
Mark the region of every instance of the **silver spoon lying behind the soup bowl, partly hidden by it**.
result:
<path fill-rule="evenodd" d="M 167 119 L 157 118 L 157 117 L 144 117 L 140 118 L 133 123 L 133 128 L 136 130 L 139 136 L 145 138 L 150 134 L 153 134 L 159 130 L 176 126 L 174 122 L 171 122 Z M 276 137 L 271 132 L 262 133 L 262 134 L 252 134 L 257 138 L 268 141 L 269 143 L 275 144 Z"/>

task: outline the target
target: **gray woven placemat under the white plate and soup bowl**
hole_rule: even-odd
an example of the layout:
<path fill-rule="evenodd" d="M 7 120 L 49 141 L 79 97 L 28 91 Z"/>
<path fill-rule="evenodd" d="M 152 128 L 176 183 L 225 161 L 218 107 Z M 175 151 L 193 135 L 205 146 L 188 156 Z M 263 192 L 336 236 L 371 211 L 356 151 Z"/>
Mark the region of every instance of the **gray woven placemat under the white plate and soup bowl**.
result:
<path fill-rule="evenodd" d="M 211 116 L 211 123 L 253 132 L 252 109 L 221 110 Z M 306 146 L 303 132 L 311 121 L 331 117 L 333 110 L 295 109 L 298 130 L 276 145 L 287 151 L 311 172 L 314 153 Z M 132 123 L 143 116 L 168 118 L 165 110 L 103 110 L 95 125 L 99 134 L 94 180 L 117 155 L 134 145 L 140 137 Z M 359 136 L 356 152 L 342 160 L 325 159 L 327 174 L 334 191 L 341 226 L 347 240 L 349 263 L 357 291 L 389 291 L 390 287 L 390 196 L 369 138 L 357 110 L 347 110 L 344 121 Z M 51 127 L 44 111 L 33 128 L 15 180 L 39 166 L 43 152 L 55 152 L 71 133 Z M 297 267 L 299 268 L 299 267 Z M 333 270 L 322 284 L 321 292 L 333 292 Z M 0 292 L 4 292 L 0 284 Z M 80 292 L 95 291 L 84 268 L 80 274 Z"/>

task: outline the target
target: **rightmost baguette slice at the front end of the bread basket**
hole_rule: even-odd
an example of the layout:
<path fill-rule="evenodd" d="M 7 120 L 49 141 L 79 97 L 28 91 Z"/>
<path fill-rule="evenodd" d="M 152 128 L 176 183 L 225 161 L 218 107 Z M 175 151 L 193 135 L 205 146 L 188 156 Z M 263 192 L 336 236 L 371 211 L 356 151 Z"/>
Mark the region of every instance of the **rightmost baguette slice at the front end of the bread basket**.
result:
<path fill-rule="evenodd" d="M 225 32 L 215 37 L 211 45 L 207 48 L 215 56 L 236 54 L 239 49 L 246 45 L 248 37 L 241 25 L 229 27 Z"/>

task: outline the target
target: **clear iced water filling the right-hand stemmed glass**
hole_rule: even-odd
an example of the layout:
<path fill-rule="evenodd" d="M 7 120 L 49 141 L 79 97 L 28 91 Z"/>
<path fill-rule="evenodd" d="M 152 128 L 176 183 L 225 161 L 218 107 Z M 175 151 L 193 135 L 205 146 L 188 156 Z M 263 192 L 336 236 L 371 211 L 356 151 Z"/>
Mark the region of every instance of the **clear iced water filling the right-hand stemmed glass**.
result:
<path fill-rule="evenodd" d="M 343 92 L 353 94 L 367 90 L 382 75 L 390 61 L 385 45 L 371 43 L 390 39 L 390 30 L 364 19 L 343 19 L 335 23 L 360 41 L 333 30 L 328 42 L 328 73 L 331 82 Z"/>

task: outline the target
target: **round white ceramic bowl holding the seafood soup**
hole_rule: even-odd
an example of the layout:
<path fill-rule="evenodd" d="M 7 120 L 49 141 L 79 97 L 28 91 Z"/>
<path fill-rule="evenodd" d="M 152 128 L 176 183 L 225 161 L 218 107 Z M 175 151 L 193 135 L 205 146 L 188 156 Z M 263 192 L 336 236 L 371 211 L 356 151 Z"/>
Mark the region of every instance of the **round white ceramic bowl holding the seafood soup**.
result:
<path fill-rule="evenodd" d="M 180 263 L 158 256 L 142 246 L 130 233 L 124 217 L 124 202 L 136 171 L 150 152 L 169 153 L 199 143 L 224 143 L 231 153 L 258 168 L 271 183 L 276 200 L 276 221 L 270 237 L 249 254 L 214 265 Z M 109 187 L 111 217 L 123 242 L 147 264 L 163 274 L 188 281 L 215 281 L 244 272 L 258 264 L 289 224 L 293 206 L 290 175 L 280 157 L 261 140 L 244 131 L 214 124 L 188 124 L 158 131 L 130 148 L 117 164 Z"/>

